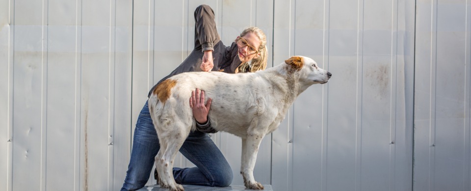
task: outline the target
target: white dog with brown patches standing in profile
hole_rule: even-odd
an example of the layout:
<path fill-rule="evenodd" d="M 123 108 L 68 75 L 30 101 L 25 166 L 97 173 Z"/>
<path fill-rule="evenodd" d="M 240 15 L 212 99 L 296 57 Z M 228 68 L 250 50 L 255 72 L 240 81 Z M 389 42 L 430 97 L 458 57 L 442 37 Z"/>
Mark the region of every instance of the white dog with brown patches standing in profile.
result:
<path fill-rule="evenodd" d="M 160 150 L 156 156 L 159 184 L 183 191 L 175 182 L 175 156 L 196 123 L 189 106 L 191 91 L 199 88 L 212 98 L 211 126 L 242 138 L 240 173 L 245 187 L 263 190 L 253 170 L 262 138 L 285 118 L 296 97 L 315 83 L 326 83 L 332 74 L 313 59 L 292 56 L 273 68 L 255 73 L 187 72 L 161 82 L 149 98 L 149 111 L 157 131 Z M 207 100 L 207 99 L 206 99 Z"/>

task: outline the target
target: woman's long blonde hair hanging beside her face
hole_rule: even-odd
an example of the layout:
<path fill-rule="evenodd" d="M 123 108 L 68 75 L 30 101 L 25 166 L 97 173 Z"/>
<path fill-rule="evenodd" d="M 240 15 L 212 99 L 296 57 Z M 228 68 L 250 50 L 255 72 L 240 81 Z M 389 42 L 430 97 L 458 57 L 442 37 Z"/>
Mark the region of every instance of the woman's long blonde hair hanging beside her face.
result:
<path fill-rule="evenodd" d="M 252 59 L 252 63 L 249 65 L 248 62 L 240 64 L 237 69 L 235 69 L 235 73 L 237 72 L 256 72 L 259 70 L 265 70 L 266 68 L 266 60 L 268 57 L 268 50 L 266 48 L 266 35 L 262 29 L 258 27 L 248 27 L 245 28 L 240 36 L 244 36 L 248 32 L 253 32 L 257 37 L 260 39 L 260 47 L 259 47 L 259 56 L 256 56 Z"/>

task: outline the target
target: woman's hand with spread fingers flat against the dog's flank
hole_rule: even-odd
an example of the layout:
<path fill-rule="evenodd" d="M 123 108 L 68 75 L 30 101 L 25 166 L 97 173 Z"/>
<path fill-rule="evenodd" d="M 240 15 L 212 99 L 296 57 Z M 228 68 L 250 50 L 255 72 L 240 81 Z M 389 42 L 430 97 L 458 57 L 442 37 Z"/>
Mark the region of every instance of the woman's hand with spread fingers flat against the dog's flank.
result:
<path fill-rule="evenodd" d="M 196 91 L 196 93 L 195 93 Z M 196 88 L 191 91 L 190 108 L 193 110 L 193 117 L 200 124 L 205 124 L 208 121 L 208 112 L 211 107 L 211 98 L 208 98 L 208 103 L 205 105 L 205 92 Z"/>

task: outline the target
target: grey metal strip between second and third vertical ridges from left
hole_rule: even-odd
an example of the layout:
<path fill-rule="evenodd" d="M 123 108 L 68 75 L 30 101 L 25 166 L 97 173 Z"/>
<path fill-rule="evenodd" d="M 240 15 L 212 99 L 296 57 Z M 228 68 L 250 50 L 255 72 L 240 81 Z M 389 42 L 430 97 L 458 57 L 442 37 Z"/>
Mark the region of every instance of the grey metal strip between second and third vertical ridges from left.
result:
<path fill-rule="evenodd" d="M 46 4 L 47 6 L 47 4 Z M 46 189 L 78 189 L 79 112 L 77 108 L 79 46 L 76 1 L 49 1 L 47 47 Z M 70 170 L 64 170 L 64 168 Z M 64 184 L 62 181 L 69 184 Z M 16 188 L 14 188 L 16 190 Z"/>

